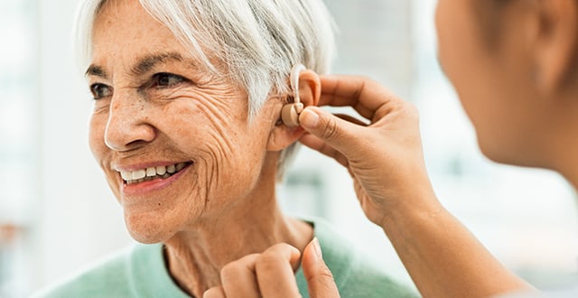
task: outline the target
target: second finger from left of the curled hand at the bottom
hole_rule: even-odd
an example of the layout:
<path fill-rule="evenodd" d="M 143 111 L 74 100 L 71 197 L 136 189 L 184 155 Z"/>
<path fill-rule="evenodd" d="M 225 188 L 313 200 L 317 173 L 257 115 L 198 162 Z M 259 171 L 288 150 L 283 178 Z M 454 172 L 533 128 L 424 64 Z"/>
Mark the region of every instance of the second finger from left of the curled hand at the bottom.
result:
<path fill-rule="evenodd" d="M 255 264 L 258 254 L 243 256 L 220 270 L 220 282 L 227 297 L 260 297 Z"/>

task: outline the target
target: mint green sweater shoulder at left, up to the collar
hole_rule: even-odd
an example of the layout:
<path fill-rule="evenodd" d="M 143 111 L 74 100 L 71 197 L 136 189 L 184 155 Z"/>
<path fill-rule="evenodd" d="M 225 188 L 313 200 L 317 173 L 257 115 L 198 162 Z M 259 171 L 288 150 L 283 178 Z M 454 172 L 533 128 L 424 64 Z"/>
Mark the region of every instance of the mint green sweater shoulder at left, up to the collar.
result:
<path fill-rule="evenodd" d="M 128 297 L 131 296 L 130 258 L 136 247 L 126 247 L 98 259 L 78 272 L 51 284 L 33 297 Z"/>

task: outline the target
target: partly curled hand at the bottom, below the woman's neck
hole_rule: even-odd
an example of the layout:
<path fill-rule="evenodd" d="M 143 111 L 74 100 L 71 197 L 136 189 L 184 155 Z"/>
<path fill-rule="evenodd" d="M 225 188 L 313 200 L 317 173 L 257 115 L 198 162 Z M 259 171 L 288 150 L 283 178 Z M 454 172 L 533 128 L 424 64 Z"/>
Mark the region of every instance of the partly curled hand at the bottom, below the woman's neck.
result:
<path fill-rule="evenodd" d="M 203 297 L 301 297 L 294 276 L 300 256 L 297 248 L 284 243 L 244 256 L 225 265 L 220 271 L 221 285 Z M 302 266 L 312 298 L 340 296 L 316 238 L 305 247 Z"/>

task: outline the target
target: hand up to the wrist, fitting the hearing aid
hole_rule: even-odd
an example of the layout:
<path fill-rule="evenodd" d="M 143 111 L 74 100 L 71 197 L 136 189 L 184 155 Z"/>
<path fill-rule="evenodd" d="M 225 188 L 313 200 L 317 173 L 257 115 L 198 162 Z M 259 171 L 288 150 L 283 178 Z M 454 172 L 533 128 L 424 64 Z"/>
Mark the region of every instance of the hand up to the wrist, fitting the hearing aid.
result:
<path fill-rule="evenodd" d="M 368 219 L 437 206 L 424 165 L 416 108 L 371 79 L 322 76 L 320 106 L 353 107 L 365 122 L 307 107 L 301 142 L 345 166 Z M 433 203 L 433 204 L 430 204 Z M 430 209 L 431 210 L 431 209 Z"/>

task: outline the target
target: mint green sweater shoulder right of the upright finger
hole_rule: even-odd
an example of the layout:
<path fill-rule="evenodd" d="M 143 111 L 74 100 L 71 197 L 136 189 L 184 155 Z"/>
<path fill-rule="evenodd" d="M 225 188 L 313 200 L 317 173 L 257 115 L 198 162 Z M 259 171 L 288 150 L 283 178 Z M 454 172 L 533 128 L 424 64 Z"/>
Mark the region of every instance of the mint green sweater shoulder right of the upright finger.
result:
<path fill-rule="evenodd" d="M 341 297 L 417 297 L 396 281 L 374 257 L 368 256 L 323 219 L 312 219 L 323 260 L 330 267 Z"/>

